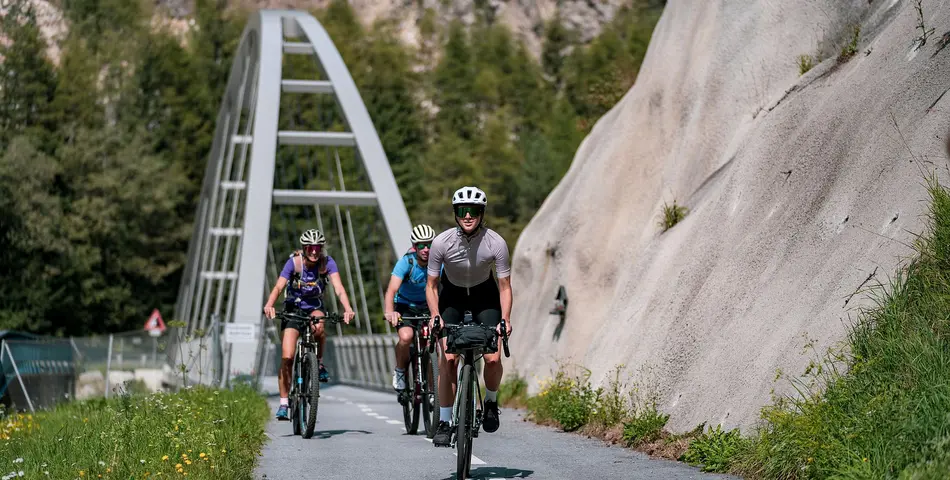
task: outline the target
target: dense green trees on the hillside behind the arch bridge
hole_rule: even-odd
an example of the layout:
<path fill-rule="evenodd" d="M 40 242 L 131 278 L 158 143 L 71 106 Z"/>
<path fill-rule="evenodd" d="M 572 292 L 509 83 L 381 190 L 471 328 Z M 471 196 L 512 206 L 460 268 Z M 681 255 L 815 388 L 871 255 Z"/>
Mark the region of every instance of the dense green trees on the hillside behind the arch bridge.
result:
<path fill-rule="evenodd" d="M 63 2 L 69 33 L 53 62 L 28 2 L 13 2 L 0 43 L 0 329 L 81 335 L 140 328 L 152 308 L 171 316 L 248 15 L 227 3 L 196 0 L 194 26 L 180 33 L 156 26 L 151 2 Z M 463 26 L 426 12 L 422 45 L 409 48 L 394 25 L 366 27 L 345 1 L 314 13 L 360 89 L 413 222 L 450 226 L 452 191 L 477 184 L 491 199 L 489 226 L 513 248 L 581 139 L 634 82 L 661 9 L 634 0 L 587 46 L 551 23 L 541 61 L 487 14 Z M 284 68 L 287 78 L 318 75 L 302 57 Z M 281 128 L 342 129 L 324 100 L 282 96 Z M 355 189 L 367 180 L 349 155 L 343 178 Z M 336 181 L 332 167 L 304 174 L 328 151 L 281 147 L 278 158 L 285 188 Z M 272 231 L 312 225 L 309 214 L 284 209 Z M 376 253 L 386 250 L 378 219 L 352 214 L 365 226 L 361 260 L 373 260 L 363 277 L 385 281 L 392 258 Z M 368 284 L 367 298 L 378 288 Z"/>

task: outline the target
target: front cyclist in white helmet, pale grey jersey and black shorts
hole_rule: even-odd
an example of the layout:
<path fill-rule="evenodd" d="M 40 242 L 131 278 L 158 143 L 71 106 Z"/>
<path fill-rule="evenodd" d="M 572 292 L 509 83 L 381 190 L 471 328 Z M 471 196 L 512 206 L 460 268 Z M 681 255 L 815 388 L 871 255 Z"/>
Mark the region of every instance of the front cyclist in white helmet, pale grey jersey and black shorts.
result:
<path fill-rule="evenodd" d="M 452 196 L 457 228 L 439 234 L 429 251 L 426 302 L 433 323 L 460 324 L 466 310 L 472 320 L 482 325 L 495 326 L 501 334 L 500 323 L 506 320 L 511 334 L 511 267 L 508 244 L 494 230 L 482 225 L 488 198 L 477 187 L 462 187 Z M 492 275 L 494 267 L 498 282 Z M 442 273 L 440 275 L 440 272 Z M 439 293 L 441 280 L 442 293 Z M 445 351 L 445 340 L 442 350 Z M 486 432 L 498 430 L 498 386 L 503 373 L 501 347 L 498 353 L 486 354 L 485 412 L 482 427 Z M 458 379 L 457 356 L 444 354 L 439 360 L 439 425 L 432 444 L 447 447 L 452 438 L 450 421 L 452 402 Z"/>

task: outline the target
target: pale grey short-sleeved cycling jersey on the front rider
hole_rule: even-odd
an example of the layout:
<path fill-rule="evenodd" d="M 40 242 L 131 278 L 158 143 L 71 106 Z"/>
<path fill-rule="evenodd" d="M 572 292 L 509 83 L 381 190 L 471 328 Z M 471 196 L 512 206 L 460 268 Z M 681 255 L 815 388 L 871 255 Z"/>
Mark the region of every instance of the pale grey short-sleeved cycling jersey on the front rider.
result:
<path fill-rule="evenodd" d="M 508 243 L 490 228 L 479 228 L 466 237 L 459 228 L 450 228 L 432 241 L 429 250 L 430 276 L 437 277 L 444 268 L 452 285 L 471 288 L 488 280 L 492 266 L 498 278 L 511 275 Z"/>

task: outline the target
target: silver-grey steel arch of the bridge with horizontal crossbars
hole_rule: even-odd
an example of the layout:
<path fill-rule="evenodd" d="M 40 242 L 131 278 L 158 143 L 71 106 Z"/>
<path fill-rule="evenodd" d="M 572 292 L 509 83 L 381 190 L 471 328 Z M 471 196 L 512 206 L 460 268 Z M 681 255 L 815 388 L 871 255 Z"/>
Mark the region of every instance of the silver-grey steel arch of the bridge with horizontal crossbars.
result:
<path fill-rule="evenodd" d="M 362 190 L 347 190 L 347 181 Z M 354 231 L 370 225 L 382 225 L 386 235 Z M 376 291 L 367 293 L 373 281 L 366 257 L 385 250 L 384 258 L 393 259 L 405 252 L 409 216 L 369 113 L 326 30 L 306 12 L 261 10 L 249 19 L 234 55 L 175 306 L 185 333 L 234 323 L 254 340 L 209 353 L 200 340 L 189 339 L 173 349 L 172 365 L 217 358 L 217 369 L 230 375 L 259 372 L 268 326 L 262 307 L 299 232 L 313 227 L 328 238 L 357 326 L 373 333 L 367 296 L 379 295 L 382 303 L 379 276 L 388 278 L 388 270 L 375 267 Z M 394 256 L 367 244 L 368 238 L 388 238 Z M 337 305 L 331 289 L 328 307 Z"/>

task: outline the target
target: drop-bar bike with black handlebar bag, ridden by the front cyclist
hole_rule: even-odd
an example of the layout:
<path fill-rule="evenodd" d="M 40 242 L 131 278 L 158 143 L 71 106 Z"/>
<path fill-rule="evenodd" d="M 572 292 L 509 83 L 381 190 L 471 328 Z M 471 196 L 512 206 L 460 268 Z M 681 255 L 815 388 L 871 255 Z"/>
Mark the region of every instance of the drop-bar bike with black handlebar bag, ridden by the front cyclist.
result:
<path fill-rule="evenodd" d="M 471 314 L 466 312 L 465 317 L 466 321 L 470 321 Z M 505 357 L 510 357 L 508 326 L 504 319 L 502 319 L 500 325 Z M 452 419 L 456 430 L 452 435 L 450 444 L 452 448 L 458 447 L 458 465 L 455 478 L 461 480 L 468 478 L 472 466 L 472 440 L 478 437 L 478 431 L 482 426 L 482 392 L 479 388 L 478 375 L 475 372 L 475 363 L 486 353 L 498 351 L 498 332 L 495 331 L 495 327 L 486 327 L 476 323 L 444 325 L 442 329 L 445 330 L 447 339 L 457 339 L 454 342 L 455 345 L 453 345 L 453 341 L 446 340 L 446 353 L 462 357 L 459 362 L 455 403 L 452 405 Z M 436 336 L 436 338 L 439 337 Z M 483 340 L 473 341 L 473 339 L 479 338 Z M 487 341 L 484 339 L 487 339 Z"/>

